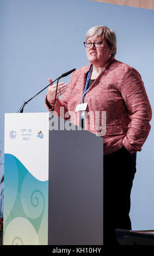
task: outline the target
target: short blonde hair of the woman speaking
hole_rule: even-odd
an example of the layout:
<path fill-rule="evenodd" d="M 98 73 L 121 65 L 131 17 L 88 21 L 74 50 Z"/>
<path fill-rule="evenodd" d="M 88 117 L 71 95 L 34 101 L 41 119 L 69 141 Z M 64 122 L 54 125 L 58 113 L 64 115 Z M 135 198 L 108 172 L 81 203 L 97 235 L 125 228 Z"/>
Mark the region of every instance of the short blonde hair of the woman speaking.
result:
<path fill-rule="evenodd" d="M 90 28 L 85 34 L 85 40 L 87 41 L 93 35 L 102 35 L 102 39 L 105 39 L 109 47 L 113 47 L 112 56 L 116 54 L 116 35 L 112 29 L 109 29 L 106 26 L 100 25 Z"/>

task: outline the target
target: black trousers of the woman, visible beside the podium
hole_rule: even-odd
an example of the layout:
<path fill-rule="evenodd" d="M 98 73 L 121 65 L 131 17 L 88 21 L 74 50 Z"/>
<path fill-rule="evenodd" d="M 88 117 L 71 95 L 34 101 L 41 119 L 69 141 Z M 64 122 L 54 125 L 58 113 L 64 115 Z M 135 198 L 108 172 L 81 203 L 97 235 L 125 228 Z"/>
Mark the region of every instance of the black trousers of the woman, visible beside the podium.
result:
<path fill-rule="evenodd" d="M 136 172 L 137 153 L 122 147 L 103 157 L 103 241 L 104 245 L 119 245 L 115 229 L 131 230 L 129 217 L 131 188 Z"/>

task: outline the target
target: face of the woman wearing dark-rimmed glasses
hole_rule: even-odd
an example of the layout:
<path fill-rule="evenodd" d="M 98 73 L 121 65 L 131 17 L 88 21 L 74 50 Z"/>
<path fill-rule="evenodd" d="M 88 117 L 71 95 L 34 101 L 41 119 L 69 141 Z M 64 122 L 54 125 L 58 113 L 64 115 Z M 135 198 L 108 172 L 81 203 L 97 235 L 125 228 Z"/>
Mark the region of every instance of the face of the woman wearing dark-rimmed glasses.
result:
<path fill-rule="evenodd" d="M 113 47 L 109 48 L 106 40 L 102 39 L 102 36 L 91 36 L 87 39 L 87 42 L 102 42 L 100 47 L 95 47 L 94 44 L 90 48 L 86 48 L 87 58 L 94 66 L 102 67 L 110 58 L 110 54 L 113 52 Z"/>

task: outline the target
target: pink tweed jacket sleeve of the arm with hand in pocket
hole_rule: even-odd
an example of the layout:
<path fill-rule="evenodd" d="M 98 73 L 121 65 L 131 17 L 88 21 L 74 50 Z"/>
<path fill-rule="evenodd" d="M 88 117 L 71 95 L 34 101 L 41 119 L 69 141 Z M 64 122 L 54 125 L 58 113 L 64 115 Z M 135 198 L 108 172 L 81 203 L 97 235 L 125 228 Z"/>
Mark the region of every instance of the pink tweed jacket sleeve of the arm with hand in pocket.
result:
<path fill-rule="evenodd" d="M 134 68 L 129 67 L 124 71 L 120 90 L 131 119 L 122 143 L 130 153 L 134 153 L 141 150 L 149 135 L 152 110 L 144 83 Z"/>

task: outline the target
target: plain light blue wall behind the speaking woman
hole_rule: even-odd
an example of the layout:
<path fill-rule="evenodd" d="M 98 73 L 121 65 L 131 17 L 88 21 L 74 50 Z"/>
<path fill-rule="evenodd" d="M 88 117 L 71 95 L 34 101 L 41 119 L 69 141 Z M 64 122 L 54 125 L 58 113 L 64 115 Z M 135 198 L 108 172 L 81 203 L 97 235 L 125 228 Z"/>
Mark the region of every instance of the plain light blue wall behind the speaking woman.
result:
<path fill-rule="evenodd" d="M 154 11 L 88 0 L 1 0 L 1 161 L 4 113 L 17 112 L 63 72 L 87 65 L 83 41 L 90 27 L 106 25 L 117 36 L 116 59 L 137 69 L 153 108 Z M 63 81 L 69 82 L 70 76 Z M 26 105 L 25 112 L 46 112 L 46 92 Z M 133 229 L 154 229 L 153 121 L 138 153 L 132 190 Z M 0 180 L 3 173 L 1 165 Z"/>

